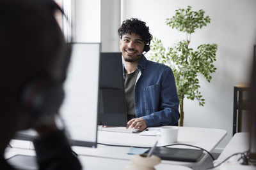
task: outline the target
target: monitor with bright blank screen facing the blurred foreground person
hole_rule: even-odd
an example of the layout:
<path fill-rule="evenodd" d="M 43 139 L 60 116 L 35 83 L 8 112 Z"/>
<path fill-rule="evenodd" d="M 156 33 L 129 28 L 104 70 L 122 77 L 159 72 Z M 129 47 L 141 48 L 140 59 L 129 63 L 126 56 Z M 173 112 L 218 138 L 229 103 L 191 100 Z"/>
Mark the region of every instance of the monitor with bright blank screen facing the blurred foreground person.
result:
<path fill-rule="evenodd" d="M 97 146 L 99 65 L 100 43 L 72 43 L 60 108 L 70 145 Z M 35 135 L 35 131 L 22 131 L 15 139 L 32 140 Z"/>

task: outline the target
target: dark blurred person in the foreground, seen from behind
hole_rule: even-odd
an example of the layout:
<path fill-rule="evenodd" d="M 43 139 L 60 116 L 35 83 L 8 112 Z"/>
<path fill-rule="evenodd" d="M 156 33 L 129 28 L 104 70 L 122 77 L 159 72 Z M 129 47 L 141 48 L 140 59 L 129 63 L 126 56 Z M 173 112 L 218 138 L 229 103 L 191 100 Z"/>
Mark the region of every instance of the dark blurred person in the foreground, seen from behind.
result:
<path fill-rule="evenodd" d="M 62 83 L 70 49 L 54 18 L 50 0 L 0 0 L 0 169 L 15 132 L 35 129 L 40 169 L 81 169 L 54 118 L 62 103 Z"/>

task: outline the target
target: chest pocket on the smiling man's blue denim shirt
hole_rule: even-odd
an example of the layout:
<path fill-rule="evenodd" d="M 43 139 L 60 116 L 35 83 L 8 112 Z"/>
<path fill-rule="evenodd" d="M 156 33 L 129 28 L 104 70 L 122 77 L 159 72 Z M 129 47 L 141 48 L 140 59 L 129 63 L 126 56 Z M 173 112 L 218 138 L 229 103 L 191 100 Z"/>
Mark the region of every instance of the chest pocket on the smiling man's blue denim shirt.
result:
<path fill-rule="evenodd" d="M 144 107 L 147 111 L 150 111 L 151 113 L 158 111 L 159 93 L 159 84 L 143 87 L 143 104 L 145 105 Z"/>

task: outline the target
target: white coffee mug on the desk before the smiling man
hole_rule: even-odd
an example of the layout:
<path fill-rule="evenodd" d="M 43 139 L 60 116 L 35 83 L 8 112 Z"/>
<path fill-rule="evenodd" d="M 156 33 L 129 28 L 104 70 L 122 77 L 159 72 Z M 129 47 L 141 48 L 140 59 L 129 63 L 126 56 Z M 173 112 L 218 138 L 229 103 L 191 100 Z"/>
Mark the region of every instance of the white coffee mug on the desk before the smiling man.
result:
<path fill-rule="evenodd" d="M 160 133 L 159 133 L 160 132 Z M 179 127 L 164 125 L 155 132 L 156 136 L 161 136 L 164 143 L 175 143 L 178 138 Z"/>

